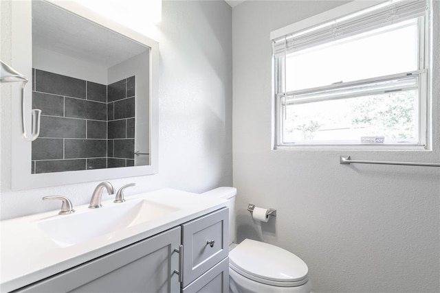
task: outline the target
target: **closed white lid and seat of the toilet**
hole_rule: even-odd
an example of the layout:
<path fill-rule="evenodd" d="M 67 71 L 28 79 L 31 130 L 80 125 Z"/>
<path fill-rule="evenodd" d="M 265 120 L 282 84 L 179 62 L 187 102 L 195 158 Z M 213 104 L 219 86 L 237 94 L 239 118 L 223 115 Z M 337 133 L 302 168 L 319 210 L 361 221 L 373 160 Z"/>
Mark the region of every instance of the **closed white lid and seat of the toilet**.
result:
<path fill-rule="evenodd" d="M 267 285 L 296 287 L 309 280 L 305 262 L 289 251 L 245 239 L 229 254 L 230 268 L 243 277 Z"/>

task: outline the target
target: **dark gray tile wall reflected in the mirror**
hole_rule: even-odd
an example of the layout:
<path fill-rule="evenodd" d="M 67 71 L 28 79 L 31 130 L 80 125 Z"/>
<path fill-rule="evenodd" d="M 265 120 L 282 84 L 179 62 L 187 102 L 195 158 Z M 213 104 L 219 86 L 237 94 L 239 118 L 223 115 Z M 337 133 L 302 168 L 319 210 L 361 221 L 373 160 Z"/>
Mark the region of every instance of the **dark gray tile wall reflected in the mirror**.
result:
<path fill-rule="evenodd" d="M 32 174 L 134 165 L 135 77 L 97 84 L 33 69 Z"/>

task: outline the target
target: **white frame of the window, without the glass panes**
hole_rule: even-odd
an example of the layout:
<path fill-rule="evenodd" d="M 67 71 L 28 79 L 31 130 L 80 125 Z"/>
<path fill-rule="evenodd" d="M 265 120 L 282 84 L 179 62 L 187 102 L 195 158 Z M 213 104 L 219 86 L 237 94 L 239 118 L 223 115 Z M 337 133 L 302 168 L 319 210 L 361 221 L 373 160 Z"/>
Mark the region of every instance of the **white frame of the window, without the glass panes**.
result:
<path fill-rule="evenodd" d="M 432 148 L 432 137 L 430 133 L 432 132 L 432 113 L 430 113 L 430 103 L 432 102 L 431 91 L 430 91 L 430 54 L 431 54 L 431 42 L 430 42 L 430 30 L 431 30 L 431 19 L 430 16 L 430 0 L 426 1 L 428 5 L 428 12 L 422 16 L 418 16 L 418 42 L 419 49 L 417 60 L 419 60 L 418 69 L 416 71 L 410 71 L 407 73 L 397 73 L 393 75 L 385 75 L 382 77 L 369 78 L 366 80 L 355 80 L 353 82 L 344 82 L 342 84 L 331 84 L 328 86 L 318 86 L 311 89 L 301 89 L 296 91 L 285 91 L 285 66 L 286 66 L 286 55 L 276 57 L 274 52 L 272 52 L 272 76 L 273 76 L 273 136 L 272 136 L 272 149 L 273 150 L 297 150 L 297 149 L 351 149 L 351 150 L 431 150 Z M 377 3 L 369 4 L 369 7 L 377 5 Z M 348 14 L 356 13 L 360 10 L 369 8 L 362 1 L 353 1 L 352 3 L 342 5 L 328 12 L 312 16 L 309 19 L 305 19 L 293 25 L 283 27 L 280 30 L 276 30 L 271 33 L 271 39 L 276 39 L 275 36 L 281 36 L 282 34 L 294 34 L 300 30 L 307 30 L 307 28 L 314 27 L 322 23 L 323 21 L 328 21 L 329 19 L 335 19 L 340 16 L 346 16 Z M 275 35 L 275 36 L 274 36 Z M 320 45 L 320 44 L 317 44 Z M 412 75 L 418 77 L 418 121 L 415 121 L 415 125 L 418 128 L 419 143 L 350 143 L 348 140 L 346 143 L 343 141 L 332 142 L 324 141 L 320 143 L 307 143 L 305 141 L 300 142 L 285 142 L 283 141 L 283 115 L 285 109 L 283 108 L 283 99 L 289 95 L 297 93 L 313 92 L 317 90 L 327 90 L 327 89 L 341 89 L 350 85 L 365 84 L 371 80 L 389 80 L 395 78 L 395 76 L 400 75 Z"/>

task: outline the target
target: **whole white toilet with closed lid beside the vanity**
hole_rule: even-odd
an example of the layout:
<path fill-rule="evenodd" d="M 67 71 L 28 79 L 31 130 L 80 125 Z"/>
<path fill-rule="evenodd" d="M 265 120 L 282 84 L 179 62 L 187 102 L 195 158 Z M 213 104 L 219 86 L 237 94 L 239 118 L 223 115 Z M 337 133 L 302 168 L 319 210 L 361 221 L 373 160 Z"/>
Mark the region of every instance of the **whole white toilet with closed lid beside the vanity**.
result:
<path fill-rule="evenodd" d="M 232 244 L 235 235 L 236 188 L 219 187 L 205 192 L 228 200 L 229 207 L 229 288 L 233 293 L 309 293 L 309 269 L 289 251 L 251 239 Z M 232 248 L 232 249 L 231 249 Z"/>

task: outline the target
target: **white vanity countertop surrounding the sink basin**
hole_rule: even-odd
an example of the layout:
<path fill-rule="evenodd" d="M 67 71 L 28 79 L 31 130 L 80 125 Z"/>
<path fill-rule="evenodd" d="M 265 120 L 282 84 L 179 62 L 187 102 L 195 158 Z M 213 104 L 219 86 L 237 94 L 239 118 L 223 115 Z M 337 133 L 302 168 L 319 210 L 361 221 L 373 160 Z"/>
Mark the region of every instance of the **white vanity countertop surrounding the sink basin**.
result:
<path fill-rule="evenodd" d="M 1 292 L 19 289 L 63 270 L 78 266 L 85 261 L 225 207 L 227 202 L 221 198 L 192 194 L 176 189 L 160 189 L 126 198 L 126 202 L 133 200 L 148 200 L 148 202 L 166 204 L 177 207 L 177 209 L 164 215 L 158 215 L 153 220 L 146 222 L 134 220 L 124 228 L 77 244 L 67 245 L 52 239 L 40 228 L 39 223 L 52 220 L 54 217 L 71 217 L 80 213 L 94 213 L 98 210 L 87 209 L 88 204 L 85 204 L 74 207 L 76 213 L 72 215 L 58 215 L 58 211 L 50 211 L 1 221 Z M 106 209 L 106 207 L 109 209 L 114 208 L 115 204 L 111 199 L 102 201 L 102 206 L 100 209 Z M 93 225 L 94 223 L 91 221 L 88 224 Z"/>

